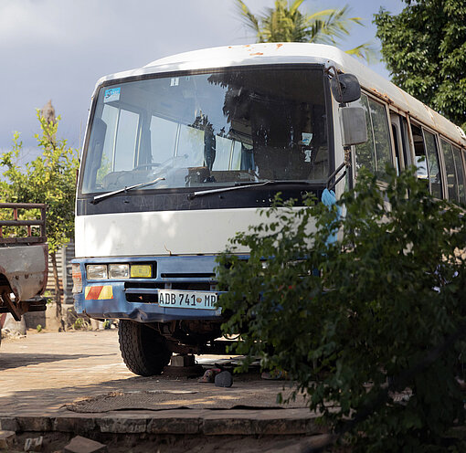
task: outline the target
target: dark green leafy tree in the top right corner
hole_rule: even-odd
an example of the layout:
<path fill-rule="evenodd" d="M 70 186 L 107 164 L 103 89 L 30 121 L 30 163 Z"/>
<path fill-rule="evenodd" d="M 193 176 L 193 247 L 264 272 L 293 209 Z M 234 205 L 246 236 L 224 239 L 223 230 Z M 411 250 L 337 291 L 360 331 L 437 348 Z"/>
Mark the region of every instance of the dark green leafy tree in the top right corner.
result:
<path fill-rule="evenodd" d="M 375 16 L 376 37 L 392 80 L 466 131 L 466 4 L 405 0 Z"/>

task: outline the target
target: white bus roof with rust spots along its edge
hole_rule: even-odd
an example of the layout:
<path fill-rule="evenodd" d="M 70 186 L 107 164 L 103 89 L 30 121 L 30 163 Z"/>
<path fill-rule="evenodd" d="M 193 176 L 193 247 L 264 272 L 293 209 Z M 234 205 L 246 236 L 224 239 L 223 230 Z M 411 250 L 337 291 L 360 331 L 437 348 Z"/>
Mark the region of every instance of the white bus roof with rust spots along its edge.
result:
<path fill-rule="evenodd" d="M 97 86 L 111 79 L 124 79 L 179 70 L 287 63 L 317 63 L 326 68 L 334 66 L 342 72 L 354 74 L 363 89 L 395 106 L 400 111 L 408 112 L 411 118 L 439 131 L 453 142 L 466 146 L 466 135 L 460 127 L 448 121 L 406 91 L 401 90 L 392 82 L 384 79 L 372 69 L 367 68 L 358 59 L 349 56 L 336 47 L 323 44 L 261 43 L 204 48 L 160 58 L 143 68 L 106 76 L 99 80 Z"/>

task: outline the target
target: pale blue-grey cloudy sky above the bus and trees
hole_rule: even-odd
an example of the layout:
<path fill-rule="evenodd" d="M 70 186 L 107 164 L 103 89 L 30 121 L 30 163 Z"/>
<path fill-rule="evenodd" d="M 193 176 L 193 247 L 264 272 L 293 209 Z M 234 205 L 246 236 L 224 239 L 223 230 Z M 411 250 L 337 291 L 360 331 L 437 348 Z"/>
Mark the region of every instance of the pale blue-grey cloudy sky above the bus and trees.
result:
<path fill-rule="evenodd" d="M 253 13 L 273 0 L 245 0 Z M 305 0 L 302 11 L 349 5 L 353 26 L 339 47 L 376 40 L 373 15 L 398 14 L 401 0 Z M 179 52 L 255 42 L 234 0 L 0 0 L 0 153 L 21 132 L 25 162 L 37 155 L 36 109 L 52 100 L 58 137 L 79 148 L 97 79 Z M 369 64 L 385 78 L 381 61 Z"/>

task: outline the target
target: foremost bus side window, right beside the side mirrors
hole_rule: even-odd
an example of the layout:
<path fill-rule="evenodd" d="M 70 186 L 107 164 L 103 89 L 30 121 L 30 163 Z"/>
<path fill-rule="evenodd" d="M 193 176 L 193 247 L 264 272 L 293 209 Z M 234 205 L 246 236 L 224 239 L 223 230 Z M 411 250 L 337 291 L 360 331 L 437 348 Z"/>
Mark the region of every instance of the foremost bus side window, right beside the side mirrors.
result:
<path fill-rule="evenodd" d="M 392 163 L 390 130 L 385 105 L 361 95 L 359 102 L 365 109 L 367 142 L 355 146 L 356 168 L 365 167 L 371 172 L 385 174 L 387 163 Z"/>

